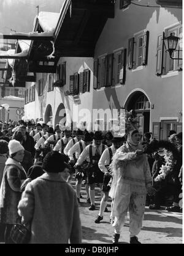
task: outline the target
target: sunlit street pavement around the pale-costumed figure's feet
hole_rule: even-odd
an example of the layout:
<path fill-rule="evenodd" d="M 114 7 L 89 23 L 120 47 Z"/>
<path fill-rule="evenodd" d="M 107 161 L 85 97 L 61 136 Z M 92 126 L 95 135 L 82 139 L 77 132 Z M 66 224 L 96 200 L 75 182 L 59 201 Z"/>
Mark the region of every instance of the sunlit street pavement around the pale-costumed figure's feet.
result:
<path fill-rule="evenodd" d="M 112 243 L 113 227 L 109 223 L 109 212 L 104 212 L 101 223 L 94 223 L 99 213 L 101 201 L 99 188 L 96 189 L 96 209 L 88 210 L 90 204 L 86 203 L 85 188 L 82 188 L 83 199 L 80 199 L 80 218 L 82 221 L 84 244 L 109 244 Z M 182 213 L 167 212 L 166 210 L 145 209 L 142 231 L 139 241 L 143 244 L 182 244 Z M 129 243 L 129 225 L 126 222 L 120 236 L 120 243 Z"/>

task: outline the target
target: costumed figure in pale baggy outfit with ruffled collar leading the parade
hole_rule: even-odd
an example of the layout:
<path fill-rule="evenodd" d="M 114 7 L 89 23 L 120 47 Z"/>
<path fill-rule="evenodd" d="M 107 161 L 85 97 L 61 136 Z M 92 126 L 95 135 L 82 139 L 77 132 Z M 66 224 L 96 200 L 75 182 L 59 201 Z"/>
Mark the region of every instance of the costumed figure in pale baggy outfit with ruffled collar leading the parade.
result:
<path fill-rule="evenodd" d="M 143 154 L 138 130 L 128 132 L 126 144 L 121 146 L 113 156 L 113 181 L 109 196 L 114 199 L 112 217 L 114 235 L 113 243 L 118 243 L 125 216 L 130 215 L 130 243 L 140 244 L 137 239 L 145 210 L 147 191 L 155 192 L 151 186 L 151 173 L 146 154 Z"/>

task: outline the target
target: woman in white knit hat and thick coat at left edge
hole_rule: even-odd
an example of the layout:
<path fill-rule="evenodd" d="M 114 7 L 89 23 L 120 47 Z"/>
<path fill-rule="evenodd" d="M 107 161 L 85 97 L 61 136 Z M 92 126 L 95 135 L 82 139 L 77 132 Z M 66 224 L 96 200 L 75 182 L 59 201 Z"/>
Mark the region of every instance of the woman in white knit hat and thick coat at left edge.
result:
<path fill-rule="evenodd" d="M 25 149 L 17 140 L 9 142 L 9 158 L 6 161 L 0 189 L 0 222 L 6 224 L 5 243 L 12 243 L 10 230 L 18 220 L 17 206 L 21 198 L 21 183 L 26 172 L 21 166 Z"/>

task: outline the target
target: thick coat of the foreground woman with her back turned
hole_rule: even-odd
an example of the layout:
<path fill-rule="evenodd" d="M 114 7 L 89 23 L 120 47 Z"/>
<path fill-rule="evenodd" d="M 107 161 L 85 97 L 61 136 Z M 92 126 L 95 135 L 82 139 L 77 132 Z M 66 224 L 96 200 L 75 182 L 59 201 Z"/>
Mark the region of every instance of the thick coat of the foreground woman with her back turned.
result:
<path fill-rule="evenodd" d="M 77 196 L 60 174 L 45 173 L 28 183 L 18 214 L 31 223 L 31 244 L 81 242 Z"/>

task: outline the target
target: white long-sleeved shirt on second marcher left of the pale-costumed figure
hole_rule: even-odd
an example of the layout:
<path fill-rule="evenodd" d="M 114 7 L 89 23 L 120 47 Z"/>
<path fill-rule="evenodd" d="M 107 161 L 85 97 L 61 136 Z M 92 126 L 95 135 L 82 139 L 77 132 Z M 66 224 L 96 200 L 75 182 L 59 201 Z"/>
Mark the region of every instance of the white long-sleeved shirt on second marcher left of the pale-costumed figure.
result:
<path fill-rule="evenodd" d="M 91 145 L 92 145 L 92 156 L 94 156 L 96 153 L 97 146 L 94 145 L 94 143 Z M 105 149 L 108 148 L 106 145 L 104 146 L 105 146 Z M 102 144 L 99 146 L 99 153 L 102 154 Z M 90 162 L 90 145 L 86 146 L 85 149 L 82 151 L 82 154 L 80 154 L 76 165 L 80 166 L 85 160 Z"/>

